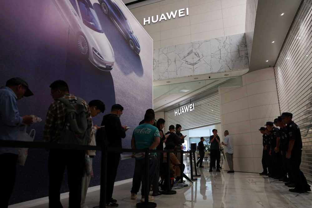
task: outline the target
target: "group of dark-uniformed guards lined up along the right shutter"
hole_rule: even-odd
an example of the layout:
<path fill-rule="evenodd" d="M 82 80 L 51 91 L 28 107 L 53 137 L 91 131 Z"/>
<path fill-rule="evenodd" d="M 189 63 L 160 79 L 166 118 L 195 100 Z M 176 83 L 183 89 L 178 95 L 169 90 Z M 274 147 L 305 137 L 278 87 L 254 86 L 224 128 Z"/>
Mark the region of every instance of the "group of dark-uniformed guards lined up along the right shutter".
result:
<path fill-rule="evenodd" d="M 273 122 L 266 122 L 266 128 L 259 129 L 263 137 L 263 172 L 260 175 L 285 182 L 285 186 L 293 188 L 290 192 L 305 193 L 311 188 L 300 170 L 302 139 L 292 117 L 292 113 L 284 112 Z"/>

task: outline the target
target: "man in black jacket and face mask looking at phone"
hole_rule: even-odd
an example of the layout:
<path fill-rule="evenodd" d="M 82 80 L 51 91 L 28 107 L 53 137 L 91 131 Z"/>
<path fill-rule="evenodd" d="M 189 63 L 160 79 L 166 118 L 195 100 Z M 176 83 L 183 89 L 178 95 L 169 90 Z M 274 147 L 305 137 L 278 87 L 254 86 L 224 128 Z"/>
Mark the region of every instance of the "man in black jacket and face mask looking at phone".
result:
<path fill-rule="evenodd" d="M 105 126 L 109 147 L 122 148 L 121 138 L 126 137 L 127 126 L 121 126 L 120 116 L 124 108 L 119 104 L 112 106 L 112 111 L 103 117 L 101 126 Z M 107 154 L 107 180 L 106 180 L 106 207 L 117 207 L 116 200 L 112 198 L 115 178 L 120 161 L 120 153 L 109 152 Z"/>

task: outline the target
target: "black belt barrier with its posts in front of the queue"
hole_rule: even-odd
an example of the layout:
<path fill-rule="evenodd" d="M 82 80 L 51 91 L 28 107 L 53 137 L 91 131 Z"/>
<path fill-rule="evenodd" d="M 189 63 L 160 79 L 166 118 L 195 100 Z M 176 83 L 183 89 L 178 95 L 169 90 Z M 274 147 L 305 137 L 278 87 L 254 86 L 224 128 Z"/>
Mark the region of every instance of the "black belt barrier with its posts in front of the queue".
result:
<path fill-rule="evenodd" d="M 106 206 L 106 178 L 107 178 L 107 152 L 145 152 L 145 193 L 149 193 L 149 153 L 167 153 L 167 190 L 162 191 L 163 194 L 176 194 L 176 191 L 170 190 L 170 153 L 181 153 L 181 183 L 183 183 L 183 153 L 190 153 L 189 151 L 170 151 L 170 150 L 149 150 L 145 148 L 140 149 L 121 149 L 108 147 L 107 144 L 102 142 L 102 146 L 89 146 L 89 145 L 74 145 L 74 144 L 56 144 L 48 142 L 31 142 L 31 141 L 7 141 L 0 140 L 0 147 L 18 147 L 18 148 L 39 148 L 39 149 L 59 149 L 59 150 L 99 150 L 102 151 L 101 157 L 101 183 L 100 183 L 100 208 L 105 208 Z M 191 166 L 192 167 L 192 166 Z M 191 171 L 192 179 L 193 172 Z M 149 195 L 145 194 L 144 202 L 136 204 L 138 208 L 154 208 L 157 204 L 154 202 L 149 202 Z"/>

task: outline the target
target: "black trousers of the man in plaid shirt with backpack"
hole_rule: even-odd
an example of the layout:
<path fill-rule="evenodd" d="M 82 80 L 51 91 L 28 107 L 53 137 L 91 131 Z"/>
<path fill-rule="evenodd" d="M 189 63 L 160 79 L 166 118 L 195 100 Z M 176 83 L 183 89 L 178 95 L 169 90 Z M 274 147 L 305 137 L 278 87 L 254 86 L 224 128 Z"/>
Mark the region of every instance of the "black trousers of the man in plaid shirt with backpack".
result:
<path fill-rule="evenodd" d="M 85 151 L 50 150 L 48 159 L 50 208 L 63 207 L 60 201 L 60 190 L 65 167 L 67 168 L 69 187 L 69 208 L 80 207 L 81 180 L 85 169 Z"/>

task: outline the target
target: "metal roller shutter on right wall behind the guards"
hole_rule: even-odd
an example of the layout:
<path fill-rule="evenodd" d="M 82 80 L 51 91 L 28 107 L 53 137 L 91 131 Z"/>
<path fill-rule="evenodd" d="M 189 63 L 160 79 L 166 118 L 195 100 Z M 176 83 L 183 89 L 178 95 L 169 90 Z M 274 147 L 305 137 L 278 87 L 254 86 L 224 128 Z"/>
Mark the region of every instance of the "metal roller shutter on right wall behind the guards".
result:
<path fill-rule="evenodd" d="M 293 114 L 302 136 L 300 169 L 312 181 L 312 0 L 302 1 L 274 66 L 280 112 Z"/>

